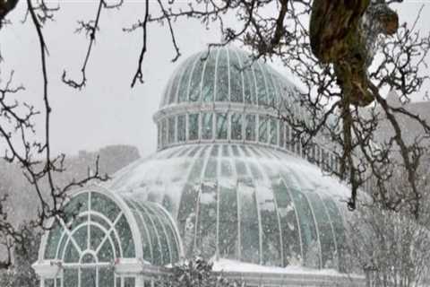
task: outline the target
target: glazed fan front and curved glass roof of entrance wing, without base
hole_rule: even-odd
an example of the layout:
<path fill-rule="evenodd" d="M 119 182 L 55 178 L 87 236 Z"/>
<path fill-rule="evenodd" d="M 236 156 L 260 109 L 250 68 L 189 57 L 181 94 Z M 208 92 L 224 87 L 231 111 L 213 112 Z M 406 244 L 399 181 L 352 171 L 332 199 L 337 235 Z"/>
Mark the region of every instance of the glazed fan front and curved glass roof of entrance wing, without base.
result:
<path fill-rule="evenodd" d="M 142 248 L 142 259 L 147 263 L 176 263 L 182 252 L 181 241 L 164 208 L 134 199 L 121 200 L 125 202 L 126 211 L 100 192 L 73 196 L 65 207 L 73 219 L 53 223 L 43 259 L 61 261 L 63 265 L 80 265 L 88 261 L 90 254 L 98 264 L 112 264 L 116 258 L 137 257 L 137 248 Z M 137 225 L 134 232 L 139 232 L 140 242 L 133 241 L 132 223 L 127 220 L 127 212 Z"/>

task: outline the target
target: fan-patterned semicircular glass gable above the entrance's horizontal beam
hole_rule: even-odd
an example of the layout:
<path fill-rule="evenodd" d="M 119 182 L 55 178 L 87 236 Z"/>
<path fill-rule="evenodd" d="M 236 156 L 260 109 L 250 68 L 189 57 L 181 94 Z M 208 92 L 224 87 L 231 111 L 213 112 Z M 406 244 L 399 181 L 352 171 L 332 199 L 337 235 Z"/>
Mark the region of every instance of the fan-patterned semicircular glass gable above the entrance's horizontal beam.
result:
<path fill-rule="evenodd" d="M 98 262 L 107 263 L 115 258 L 135 257 L 130 224 L 108 196 L 81 193 L 73 197 L 65 211 L 71 220 L 56 219 L 47 237 L 44 259 L 77 264 L 88 252 Z"/>

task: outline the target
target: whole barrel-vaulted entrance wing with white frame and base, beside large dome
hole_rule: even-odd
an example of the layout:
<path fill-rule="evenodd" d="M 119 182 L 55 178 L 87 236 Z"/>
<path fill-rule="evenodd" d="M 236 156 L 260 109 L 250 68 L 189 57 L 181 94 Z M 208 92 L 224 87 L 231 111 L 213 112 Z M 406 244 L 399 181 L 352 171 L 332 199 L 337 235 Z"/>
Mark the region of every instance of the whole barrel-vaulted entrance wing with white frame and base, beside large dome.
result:
<path fill-rule="evenodd" d="M 175 263 L 182 252 L 174 222 L 159 204 L 94 187 L 73 195 L 65 212 L 70 221 L 52 222 L 34 265 L 52 286 L 121 287 L 115 271 Z"/>

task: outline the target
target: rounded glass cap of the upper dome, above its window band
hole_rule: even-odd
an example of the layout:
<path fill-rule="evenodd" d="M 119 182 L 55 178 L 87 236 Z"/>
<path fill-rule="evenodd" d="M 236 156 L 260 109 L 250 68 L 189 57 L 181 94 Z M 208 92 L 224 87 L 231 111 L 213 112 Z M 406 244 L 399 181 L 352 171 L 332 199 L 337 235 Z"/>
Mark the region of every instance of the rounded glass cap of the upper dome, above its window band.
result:
<path fill-rule="evenodd" d="M 252 64 L 252 65 L 251 65 Z M 170 77 L 160 108 L 181 103 L 233 102 L 273 106 L 294 85 L 236 48 L 211 48 L 188 57 Z"/>

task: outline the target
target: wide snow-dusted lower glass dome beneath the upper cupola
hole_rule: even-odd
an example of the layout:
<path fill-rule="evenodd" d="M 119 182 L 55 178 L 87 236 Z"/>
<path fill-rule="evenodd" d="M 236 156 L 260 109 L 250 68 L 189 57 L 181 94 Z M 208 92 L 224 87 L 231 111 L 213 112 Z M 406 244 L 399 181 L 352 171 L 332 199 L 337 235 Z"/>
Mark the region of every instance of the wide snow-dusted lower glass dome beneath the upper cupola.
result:
<path fill-rule="evenodd" d="M 232 143 L 172 147 L 118 172 L 109 188 L 164 205 L 187 256 L 346 266 L 340 200 L 347 187 L 288 152 Z"/>

